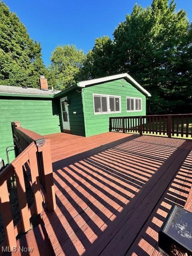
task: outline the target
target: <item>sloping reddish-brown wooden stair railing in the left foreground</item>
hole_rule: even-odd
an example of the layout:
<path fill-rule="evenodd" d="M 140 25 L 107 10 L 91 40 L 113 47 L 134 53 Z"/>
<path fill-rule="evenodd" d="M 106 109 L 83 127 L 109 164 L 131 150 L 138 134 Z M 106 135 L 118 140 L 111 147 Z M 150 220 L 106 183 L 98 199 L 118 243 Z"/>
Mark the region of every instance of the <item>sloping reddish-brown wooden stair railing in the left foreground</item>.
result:
<path fill-rule="evenodd" d="M 12 122 L 16 158 L 0 172 L 0 210 L 4 223 L 5 240 L 1 246 L 16 246 L 16 236 L 30 229 L 30 217 L 42 212 L 42 202 L 49 211 L 56 209 L 50 140 Z M 26 175 L 25 175 L 26 174 Z M 14 176 L 21 220 L 14 226 L 7 181 Z M 28 208 L 24 177 L 28 178 L 34 204 Z"/>

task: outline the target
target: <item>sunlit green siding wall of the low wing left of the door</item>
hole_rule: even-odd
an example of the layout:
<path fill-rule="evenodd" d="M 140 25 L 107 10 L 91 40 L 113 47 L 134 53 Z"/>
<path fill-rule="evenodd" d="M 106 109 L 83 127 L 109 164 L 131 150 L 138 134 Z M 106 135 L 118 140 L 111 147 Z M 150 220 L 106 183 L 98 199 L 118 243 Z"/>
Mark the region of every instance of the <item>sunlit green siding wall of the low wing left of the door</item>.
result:
<path fill-rule="evenodd" d="M 20 121 L 23 128 L 39 134 L 60 132 L 59 108 L 55 100 L 0 97 L 0 157 L 6 163 L 6 147 L 13 145 L 11 122 Z M 10 160 L 14 151 L 9 152 Z"/>

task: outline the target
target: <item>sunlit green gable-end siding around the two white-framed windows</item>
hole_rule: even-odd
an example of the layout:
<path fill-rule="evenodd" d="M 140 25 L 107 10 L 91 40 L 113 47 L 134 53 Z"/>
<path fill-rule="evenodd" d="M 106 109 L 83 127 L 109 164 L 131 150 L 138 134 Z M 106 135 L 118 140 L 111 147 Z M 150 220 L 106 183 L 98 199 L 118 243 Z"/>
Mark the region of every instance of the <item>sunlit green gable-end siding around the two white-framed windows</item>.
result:
<path fill-rule="evenodd" d="M 94 115 L 93 94 L 121 96 L 121 113 Z M 142 111 L 127 112 L 126 97 L 142 98 Z M 146 96 L 124 79 L 97 84 L 82 89 L 84 107 L 85 135 L 92 136 L 109 131 L 110 116 L 141 116 L 146 115 Z"/>

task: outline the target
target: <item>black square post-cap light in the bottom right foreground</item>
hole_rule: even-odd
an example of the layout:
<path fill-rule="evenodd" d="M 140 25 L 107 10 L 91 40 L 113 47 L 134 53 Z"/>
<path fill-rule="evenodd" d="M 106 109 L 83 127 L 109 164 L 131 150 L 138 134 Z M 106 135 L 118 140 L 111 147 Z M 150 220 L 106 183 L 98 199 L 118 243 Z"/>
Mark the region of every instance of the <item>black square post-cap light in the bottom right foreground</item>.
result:
<path fill-rule="evenodd" d="M 174 205 L 159 232 L 158 243 L 162 255 L 192 256 L 192 212 Z"/>

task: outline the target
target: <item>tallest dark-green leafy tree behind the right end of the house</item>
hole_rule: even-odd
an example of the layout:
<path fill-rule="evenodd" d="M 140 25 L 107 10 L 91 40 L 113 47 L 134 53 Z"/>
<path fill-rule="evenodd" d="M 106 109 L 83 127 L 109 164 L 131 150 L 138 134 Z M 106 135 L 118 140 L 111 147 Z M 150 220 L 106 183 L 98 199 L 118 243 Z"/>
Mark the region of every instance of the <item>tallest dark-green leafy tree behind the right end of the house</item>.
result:
<path fill-rule="evenodd" d="M 128 71 L 151 92 L 151 113 L 177 112 L 186 104 L 191 85 L 183 80 L 187 70 L 181 65 L 189 25 L 186 12 L 176 12 L 174 1 L 153 0 L 146 9 L 134 6 L 114 32 L 115 68 Z M 158 109 L 156 102 L 161 103 Z"/>

